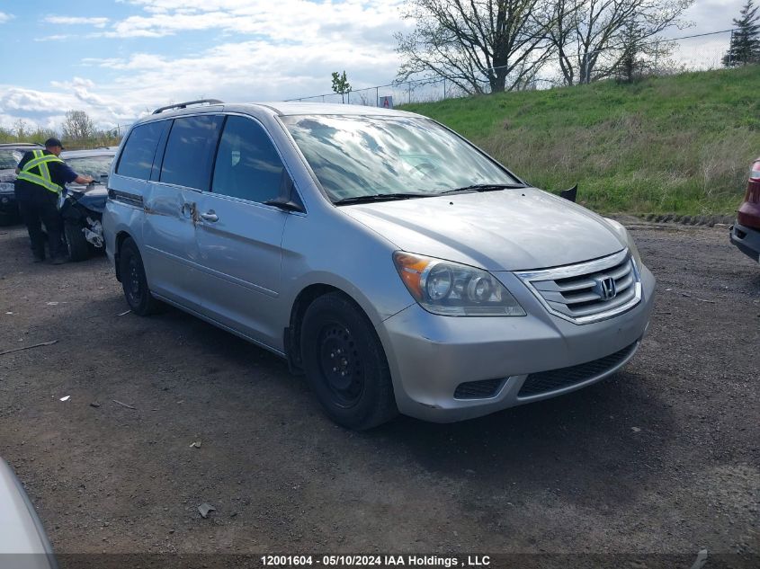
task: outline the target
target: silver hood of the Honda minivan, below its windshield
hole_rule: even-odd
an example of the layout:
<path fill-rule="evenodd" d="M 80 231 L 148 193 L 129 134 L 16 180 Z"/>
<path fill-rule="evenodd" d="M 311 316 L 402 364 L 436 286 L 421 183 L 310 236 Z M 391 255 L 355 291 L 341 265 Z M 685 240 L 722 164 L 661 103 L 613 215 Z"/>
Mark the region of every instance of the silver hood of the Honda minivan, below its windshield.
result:
<path fill-rule="evenodd" d="M 340 209 L 401 250 L 488 271 L 523 271 L 588 261 L 626 246 L 604 218 L 534 188 Z"/>

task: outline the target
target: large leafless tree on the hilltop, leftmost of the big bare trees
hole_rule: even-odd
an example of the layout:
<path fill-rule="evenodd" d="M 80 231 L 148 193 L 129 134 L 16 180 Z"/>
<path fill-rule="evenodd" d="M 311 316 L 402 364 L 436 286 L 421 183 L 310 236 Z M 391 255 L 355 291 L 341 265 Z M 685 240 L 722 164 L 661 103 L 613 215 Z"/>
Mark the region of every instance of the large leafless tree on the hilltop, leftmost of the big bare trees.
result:
<path fill-rule="evenodd" d="M 550 0 L 408 0 L 411 33 L 396 34 L 398 80 L 445 78 L 465 93 L 530 83 L 553 49 Z"/>

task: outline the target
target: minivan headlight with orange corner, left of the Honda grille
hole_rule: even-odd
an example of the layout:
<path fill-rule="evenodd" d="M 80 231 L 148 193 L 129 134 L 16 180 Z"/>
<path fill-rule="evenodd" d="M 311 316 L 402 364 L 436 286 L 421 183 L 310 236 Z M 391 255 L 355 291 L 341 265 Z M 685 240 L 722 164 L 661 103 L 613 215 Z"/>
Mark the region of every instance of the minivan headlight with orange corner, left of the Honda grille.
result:
<path fill-rule="evenodd" d="M 442 316 L 525 316 L 490 273 L 458 262 L 397 251 L 393 262 L 417 303 Z"/>

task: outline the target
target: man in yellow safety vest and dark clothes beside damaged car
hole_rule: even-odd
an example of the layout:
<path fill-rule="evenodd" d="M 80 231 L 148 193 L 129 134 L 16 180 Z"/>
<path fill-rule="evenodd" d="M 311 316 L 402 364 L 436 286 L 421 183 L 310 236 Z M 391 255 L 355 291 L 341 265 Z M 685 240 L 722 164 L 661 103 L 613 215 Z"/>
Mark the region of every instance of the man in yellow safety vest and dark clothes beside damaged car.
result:
<path fill-rule="evenodd" d="M 93 178 L 80 176 L 58 158 L 63 146 L 58 138 L 48 138 L 44 150 L 27 152 L 16 168 L 16 200 L 31 240 L 34 262 L 45 260 L 45 232 L 53 264 L 67 262 L 63 243 L 63 220 L 58 213 L 58 196 L 70 182 L 90 183 Z"/>

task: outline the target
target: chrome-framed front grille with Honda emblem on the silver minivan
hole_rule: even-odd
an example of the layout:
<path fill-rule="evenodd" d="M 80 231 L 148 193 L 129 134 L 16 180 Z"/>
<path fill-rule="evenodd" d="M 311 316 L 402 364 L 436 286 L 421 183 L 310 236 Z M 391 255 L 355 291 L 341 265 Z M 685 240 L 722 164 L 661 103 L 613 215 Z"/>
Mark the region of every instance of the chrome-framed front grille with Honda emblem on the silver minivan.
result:
<path fill-rule="evenodd" d="M 577 324 L 620 314 L 641 298 L 639 273 L 627 251 L 592 262 L 520 272 L 517 276 L 550 313 Z"/>

